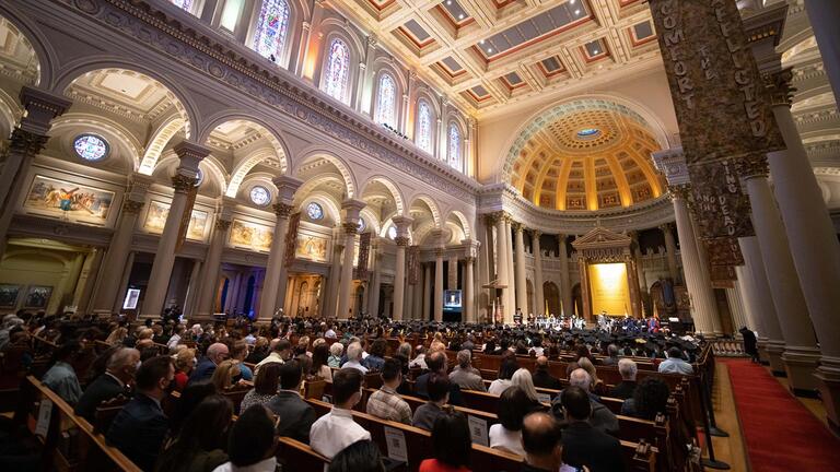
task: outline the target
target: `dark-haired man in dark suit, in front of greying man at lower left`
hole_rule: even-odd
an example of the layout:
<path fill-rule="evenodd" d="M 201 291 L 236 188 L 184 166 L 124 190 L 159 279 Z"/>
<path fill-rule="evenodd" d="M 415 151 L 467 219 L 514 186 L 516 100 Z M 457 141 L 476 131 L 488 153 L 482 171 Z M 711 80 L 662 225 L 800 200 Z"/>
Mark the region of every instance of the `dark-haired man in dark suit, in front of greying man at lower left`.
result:
<path fill-rule="evenodd" d="M 152 470 L 170 423 L 161 409 L 161 400 L 175 378 L 170 356 L 147 359 L 137 370 L 135 398 L 117 414 L 105 435 L 107 442 L 119 449 L 137 467 Z"/>

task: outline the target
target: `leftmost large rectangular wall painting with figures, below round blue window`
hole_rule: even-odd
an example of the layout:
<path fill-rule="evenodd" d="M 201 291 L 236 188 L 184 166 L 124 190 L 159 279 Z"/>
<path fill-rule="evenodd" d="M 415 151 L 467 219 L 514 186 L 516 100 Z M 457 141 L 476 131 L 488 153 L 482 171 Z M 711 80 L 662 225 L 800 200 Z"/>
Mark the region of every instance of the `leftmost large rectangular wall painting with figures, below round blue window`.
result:
<path fill-rule="evenodd" d="M 113 191 L 36 175 L 23 208 L 27 213 L 104 226 L 113 202 Z"/>

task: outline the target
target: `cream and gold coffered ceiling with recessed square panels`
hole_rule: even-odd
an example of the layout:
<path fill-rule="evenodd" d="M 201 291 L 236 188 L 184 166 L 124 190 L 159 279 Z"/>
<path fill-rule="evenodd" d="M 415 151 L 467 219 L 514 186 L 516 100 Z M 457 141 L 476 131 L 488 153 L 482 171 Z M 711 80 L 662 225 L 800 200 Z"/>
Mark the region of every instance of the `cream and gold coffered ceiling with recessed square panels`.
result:
<path fill-rule="evenodd" d="M 331 0 L 480 116 L 658 57 L 642 0 Z"/>

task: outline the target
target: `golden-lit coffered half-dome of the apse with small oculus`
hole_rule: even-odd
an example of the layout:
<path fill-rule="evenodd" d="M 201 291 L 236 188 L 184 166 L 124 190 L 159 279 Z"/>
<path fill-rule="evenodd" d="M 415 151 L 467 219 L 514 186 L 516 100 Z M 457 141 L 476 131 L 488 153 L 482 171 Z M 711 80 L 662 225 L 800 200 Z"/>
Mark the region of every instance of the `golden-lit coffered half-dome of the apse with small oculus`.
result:
<path fill-rule="evenodd" d="M 535 205 L 569 211 L 627 208 L 657 198 L 660 145 L 625 107 L 572 107 L 539 117 L 513 162 L 510 184 Z"/>

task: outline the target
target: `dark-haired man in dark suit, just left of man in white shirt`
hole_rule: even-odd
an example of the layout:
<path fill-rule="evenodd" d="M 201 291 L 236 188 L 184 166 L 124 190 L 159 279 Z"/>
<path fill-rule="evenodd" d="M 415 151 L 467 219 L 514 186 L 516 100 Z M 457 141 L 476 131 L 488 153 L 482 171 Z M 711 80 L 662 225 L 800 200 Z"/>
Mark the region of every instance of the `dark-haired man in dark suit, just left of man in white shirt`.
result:
<path fill-rule="evenodd" d="M 288 436 L 301 442 L 310 442 L 310 428 L 317 416 L 300 392 L 301 365 L 289 361 L 280 367 L 280 391 L 268 403 L 269 410 L 280 416 L 278 436 Z"/>

